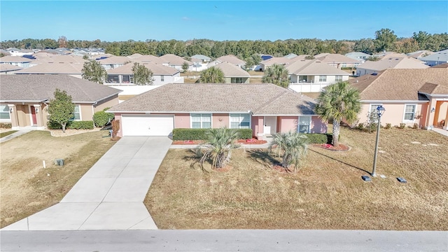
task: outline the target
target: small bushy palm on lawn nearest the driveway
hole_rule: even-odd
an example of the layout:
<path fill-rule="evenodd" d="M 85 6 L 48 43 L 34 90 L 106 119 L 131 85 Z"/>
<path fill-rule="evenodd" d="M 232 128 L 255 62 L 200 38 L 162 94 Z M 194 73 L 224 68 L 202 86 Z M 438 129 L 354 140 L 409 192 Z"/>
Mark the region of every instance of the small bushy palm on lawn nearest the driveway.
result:
<path fill-rule="evenodd" d="M 239 133 L 235 129 L 219 128 L 210 129 L 207 135 L 207 143 L 198 147 L 205 150 L 200 159 L 201 167 L 204 169 L 204 162 L 211 159 L 212 168 L 223 168 L 230 161 L 232 150 L 239 147 Z"/>

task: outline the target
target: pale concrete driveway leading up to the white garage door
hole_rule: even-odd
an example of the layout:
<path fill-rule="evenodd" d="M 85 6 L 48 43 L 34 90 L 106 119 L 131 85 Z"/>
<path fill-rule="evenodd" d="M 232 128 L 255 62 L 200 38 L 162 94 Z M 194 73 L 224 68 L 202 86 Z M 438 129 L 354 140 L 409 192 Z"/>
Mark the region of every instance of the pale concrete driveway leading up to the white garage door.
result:
<path fill-rule="evenodd" d="M 172 140 L 123 137 L 55 206 L 2 230 L 154 230 L 143 204 Z"/>

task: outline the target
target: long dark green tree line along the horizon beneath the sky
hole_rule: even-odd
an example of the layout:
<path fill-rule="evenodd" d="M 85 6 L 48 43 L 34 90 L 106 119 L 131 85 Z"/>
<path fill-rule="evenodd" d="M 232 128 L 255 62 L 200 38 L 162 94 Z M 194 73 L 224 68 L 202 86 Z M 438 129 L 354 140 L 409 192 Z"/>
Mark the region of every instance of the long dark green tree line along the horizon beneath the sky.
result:
<path fill-rule="evenodd" d="M 391 29 L 375 31 L 374 38 L 360 38 L 359 40 L 337 41 L 321 40 L 318 38 L 287 39 L 277 41 L 241 40 L 241 41 L 213 41 L 210 39 L 193 39 L 188 41 L 80 41 L 68 40 L 65 36 L 57 40 L 33 39 L 2 41 L 0 48 L 105 48 L 106 53 L 127 56 L 134 53 L 142 55 L 161 56 L 166 54 L 191 57 L 193 55 L 207 55 L 212 58 L 223 55 L 236 55 L 241 59 L 248 59 L 254 54 L 267 54 L 277 57 L 295 53 L 296 55 L 316 55 L 323 52 L 346 54 L 357 51 L 372 54 L 375 52 L 394 51 L 409 53 L 416 50 L 439 51 L 448 48 L 448 34 L 428 34 L 426 31 L 414 32 L 412 37 L 398 38 Z"/>

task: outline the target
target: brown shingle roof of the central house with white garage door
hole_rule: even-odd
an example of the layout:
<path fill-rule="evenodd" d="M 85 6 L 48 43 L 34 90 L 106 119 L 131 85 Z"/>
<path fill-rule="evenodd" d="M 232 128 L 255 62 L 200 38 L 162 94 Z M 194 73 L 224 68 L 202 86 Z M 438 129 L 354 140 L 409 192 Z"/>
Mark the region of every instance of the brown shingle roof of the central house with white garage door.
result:
<path fill-rule="evenodd" d="M 314 114 L 316 102 L 273 84 L 167 84 L 113 106 L 114 112 Z"/>

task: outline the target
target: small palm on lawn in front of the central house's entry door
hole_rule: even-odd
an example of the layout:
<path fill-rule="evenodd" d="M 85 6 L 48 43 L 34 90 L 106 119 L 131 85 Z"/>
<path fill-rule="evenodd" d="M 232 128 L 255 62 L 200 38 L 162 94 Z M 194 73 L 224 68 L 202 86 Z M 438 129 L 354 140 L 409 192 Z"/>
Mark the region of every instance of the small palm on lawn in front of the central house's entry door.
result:
<path fill-rule="evenodd" d="M 281 166 L 290 171 L 288 167 L 294 163 L 294 172 L 296 172 L 300 160 L 307 155 L 307 143 L 308 139 L 304 134 L 292 131 L 277 133 L 272 135 L 268 150 L 270 152 L 276 146 L 277 155 L 283 153 Z"/>

